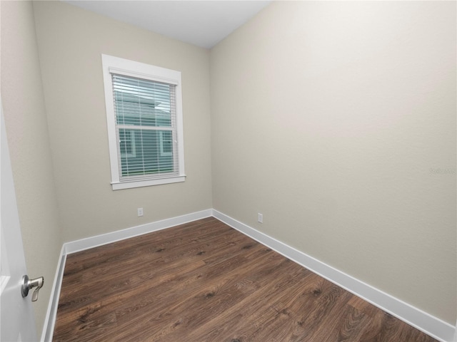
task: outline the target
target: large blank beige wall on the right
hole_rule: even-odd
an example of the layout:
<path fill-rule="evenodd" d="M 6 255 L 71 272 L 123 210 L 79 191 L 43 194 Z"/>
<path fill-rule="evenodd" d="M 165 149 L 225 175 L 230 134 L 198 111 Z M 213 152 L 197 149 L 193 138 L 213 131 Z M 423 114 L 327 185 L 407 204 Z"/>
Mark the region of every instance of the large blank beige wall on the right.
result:
<path fill-rule="evenodd" d="M 214 209 L 455 323 L 456 3 L 278 1 L 210 61 Z"/>

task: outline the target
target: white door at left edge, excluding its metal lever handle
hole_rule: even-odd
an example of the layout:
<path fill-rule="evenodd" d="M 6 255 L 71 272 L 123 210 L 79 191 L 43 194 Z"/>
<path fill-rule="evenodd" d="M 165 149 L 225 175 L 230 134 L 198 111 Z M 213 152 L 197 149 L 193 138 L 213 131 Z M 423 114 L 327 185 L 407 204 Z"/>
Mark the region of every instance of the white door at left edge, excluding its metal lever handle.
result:
<path fill-rule="evenodd" d="M 0 341 L 38 341 L 31 296 L 23 298 L 21 294 L 26 261 L 1 101 L 0 112 Z"/>

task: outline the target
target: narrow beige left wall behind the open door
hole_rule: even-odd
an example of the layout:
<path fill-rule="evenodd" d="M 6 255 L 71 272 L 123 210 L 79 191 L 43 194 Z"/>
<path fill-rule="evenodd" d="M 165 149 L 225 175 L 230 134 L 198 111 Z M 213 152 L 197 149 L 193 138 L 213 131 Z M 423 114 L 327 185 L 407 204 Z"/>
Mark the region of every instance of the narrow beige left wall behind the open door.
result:
<path fill-rule="evenodd" d="M 1 99 L 24 253 L 29 276 L 45 279 L 39 300 L 34 303 L 36 327 L 41 334 L 59 260 L 61 234 L 34 13 L 29 1 L 0 1 L 0 6 Z"/>

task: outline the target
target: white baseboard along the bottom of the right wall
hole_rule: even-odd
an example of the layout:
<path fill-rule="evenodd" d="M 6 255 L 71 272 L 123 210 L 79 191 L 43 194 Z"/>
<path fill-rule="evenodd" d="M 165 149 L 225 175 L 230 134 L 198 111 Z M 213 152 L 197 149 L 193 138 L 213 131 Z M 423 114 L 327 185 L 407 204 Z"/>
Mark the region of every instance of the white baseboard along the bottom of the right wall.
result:
<path fill-rule="evenodd" d="M 400 299 L 396 299 L 395 297 L 386 294 L 371 285 L 365 284 L 363 281 L 338 271 L 337 269 L 334 269 L 333 267 L 328 266 L 327 264 L 324 264 L 323 262 L 318 261 L 317 259 L 314 259 L 313 257 L 288 246 L 287 244 L 284 244 L 283 242 L 273 239 L 272 237 L 268 237 L 268 235 L 258 232 L 258 230 L 238 222 L 236 219 L 232 219 L 226 214 L 218 212 L 215 209 L 213 209 L 213 216 L 239 232 L 246 234 L 248 237 L 251 237 L 267 247 L 270 247 L 279 254 L 282 254 L 284 257 L 295 261 L 297 264 L 300 264 L 306 269 L 309 269 L 328 281 L 331 281 L 333 284 L 341 286 L 343 289 L 361 297 L 374 306 L 377 306 L 379 309 L 388 312 L 392 316 L 396 316 L 396 318 L 401 319 L 414 328 L 417 328 L 429 336 L 436 338 L 438 341 L 456 341 L 453 338 L 456 327 L 451 324 L 441 321 L 440 319 L 433 317 L 426 312 L 401 301 Z"/>

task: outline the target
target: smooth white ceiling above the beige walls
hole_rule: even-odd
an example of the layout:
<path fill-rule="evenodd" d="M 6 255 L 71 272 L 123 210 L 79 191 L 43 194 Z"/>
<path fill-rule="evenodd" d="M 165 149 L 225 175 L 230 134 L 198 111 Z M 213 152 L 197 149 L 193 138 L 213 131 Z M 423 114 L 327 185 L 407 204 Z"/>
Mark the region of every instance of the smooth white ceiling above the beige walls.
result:
<path fill-rule="evenodd" d="M 271 3 L 271 0 L 64 1 L 204 48 L 219 43 Z"/>

